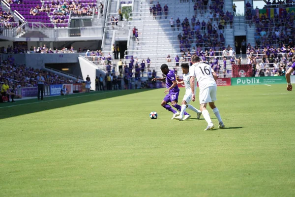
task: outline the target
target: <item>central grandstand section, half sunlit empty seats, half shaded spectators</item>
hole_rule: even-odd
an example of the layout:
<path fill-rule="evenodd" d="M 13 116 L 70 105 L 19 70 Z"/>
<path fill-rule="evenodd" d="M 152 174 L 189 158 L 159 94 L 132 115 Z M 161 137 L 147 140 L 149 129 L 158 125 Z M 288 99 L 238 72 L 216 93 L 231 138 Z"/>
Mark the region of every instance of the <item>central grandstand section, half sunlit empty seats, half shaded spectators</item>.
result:
<path fill-rule="evenodd" d="M 234 49 L 233 38 L 226 39 L 232 35 L 231 24 L 234 17 L 230 11 L 225 11 L 230 10 L 231 5 L 225 6 L 222 0 L 200 0 L 195 4 L 165 0 L 150 4 L 149 1 L 140 1 L 134 7 L 130 27 L 135 27 L 136 30 L 132 30 L 130 34 L 134 34 L 136 38 L 129 38 L 128 56 L 149 58 L 151 69 L 166 63 L 180 70 L 176 63 L 189 61 L 189 56 L 193 54 L 200 57 L 205 55 L 206 60 L 212 63 L 217 56 L 218 63 L 214 61 L 214 65 L 224 67 L 223 50 L 227 48 L 230 51 L 231 46 Z M 228 46 L 228 43 L 232 45 Z M 227 57 L 226 65 L 230 66 L 228 51 L 223 54 Z M 169 61 L 166 60 L 168 54 L 171 57 Z M 128 56 L 125 56 L 127 63 Z M 223 72 L 220 68 L 217 70 Z M 156 71 L 160 72 L 158 68 Z"/>

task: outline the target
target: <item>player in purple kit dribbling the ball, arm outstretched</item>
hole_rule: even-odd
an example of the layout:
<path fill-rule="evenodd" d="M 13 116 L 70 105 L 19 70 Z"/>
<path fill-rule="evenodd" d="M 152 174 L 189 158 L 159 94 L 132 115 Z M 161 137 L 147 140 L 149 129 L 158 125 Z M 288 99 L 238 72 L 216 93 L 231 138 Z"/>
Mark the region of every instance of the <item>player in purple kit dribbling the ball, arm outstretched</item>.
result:
<path fill-rule="evenodd" d="M 171 111 L 173 113 L 172 119 L 174 119 L 174 117 L 178 116 L 180 113 L 177 112 L 175 109 L 173 109 L 168 103 L 171 102 L 173 107 L 175 107 L 178 111 L 181 111 L 181 106 L 177 104 L 178 95 L 179 95 L 180 90 L 177 86 L 177 80 L 176 80 L 174 71 L 170 70 L 166 64 L 163 64 L 161 66 L 161 70 L 162 70 L 163 74 L 166 75 L 166 77 L 153 78 L 151 81 L 156 81 L 156 80 L 166 81 L 167 89 L 165 90 L 165 93 L 167 95 L 163 99 L 161 105 L 165 109 L 167 109 L 168 111 Z M 190 118 L 190 115 L 188 113 L 184 112 L 183 120 L 186 120 L 188 118 Z"/>

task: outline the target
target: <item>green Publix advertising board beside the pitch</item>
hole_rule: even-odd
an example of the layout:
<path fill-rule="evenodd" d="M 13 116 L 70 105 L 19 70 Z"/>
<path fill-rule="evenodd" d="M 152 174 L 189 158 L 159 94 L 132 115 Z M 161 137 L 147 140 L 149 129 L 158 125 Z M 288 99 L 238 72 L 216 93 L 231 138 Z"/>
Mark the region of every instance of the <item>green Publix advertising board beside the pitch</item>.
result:
<path fill-rule="evenodd" d="M 285 76 L 276 77 L 238 77 L 232 78 L 232 86 L 239 85 L 263 85 L 287 83 Z"/>

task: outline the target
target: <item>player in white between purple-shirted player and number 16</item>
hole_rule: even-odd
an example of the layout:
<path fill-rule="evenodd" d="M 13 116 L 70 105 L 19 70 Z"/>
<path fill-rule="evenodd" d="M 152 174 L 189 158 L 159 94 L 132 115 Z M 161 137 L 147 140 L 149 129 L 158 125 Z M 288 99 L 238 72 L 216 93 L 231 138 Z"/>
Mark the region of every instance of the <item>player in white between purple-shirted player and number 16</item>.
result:
<path fill-rule="evenodd" d="M 182 69 L 182 73 L 183 73 L 183 81 L 177 82 L 177 84 L 184 83 L 185 95 L 182 99 L 180 115 L 173 117 L 173 119 L 180 120 L 180 121 L 186 120 L 187 116 L 183 117 L 183 114 L 184 114 L 186 108 L 196 112 L 197 119 L 200 119 L 202 112 L 200 110 L 196 109 L 193 105 L 188 104 L 192 100 L 192 90 L 190 87 L 190 76 L 189 76 L 189 65 L 187 63 L 181 64 L 181 69 Z M 195 90 L 196 89 L 197 89 L 197 83 L 195 83 Z"/>

